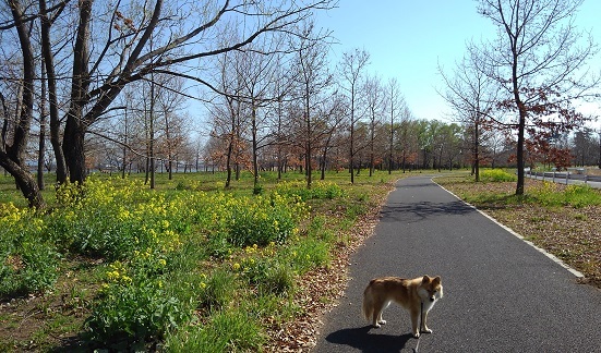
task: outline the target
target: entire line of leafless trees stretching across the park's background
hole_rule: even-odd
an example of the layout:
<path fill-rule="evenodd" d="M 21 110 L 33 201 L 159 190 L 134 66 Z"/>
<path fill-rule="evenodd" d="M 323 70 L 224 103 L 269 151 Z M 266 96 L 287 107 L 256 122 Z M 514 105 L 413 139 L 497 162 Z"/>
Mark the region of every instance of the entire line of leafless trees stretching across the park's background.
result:
<path fill-rule="evenodd" d="M 452 72 L 441 68 L 457 121 L 441 123 L 413 119 L 398 83 L 369 72 L 365 50 L 328 61 L 330 34 L 312 13 L 330 0 L 5 0 L 0 166 L 44 207 L 32 136 L 38 176 L 50 165 L 58 183 L 84 182 L 94 166 L 136 169 L 151 187 L 157 168 L 201 160 L 227 170 L 227 185 L 241 169 L 256 183 L 261 169 L 299 168 L 309 186 L 327 168 L 348 169 L 351 182 L 360 168 L 470 165 L 478 178 L 513 149 L 520 194 L 528 162 L 566 165 L 568 147 L 590 161 L 596 134 L 566 137 L 587 120 L 572 104 L 598 84 L 584 71 L 594 45 L 574 26 L 580 3 L 479 0 L 498 37 L 470 42 Z M 191 99 L 206 107 L 208 127 L 195 129 Z M 201 149 L 193 136 L 204 132 Z"/>

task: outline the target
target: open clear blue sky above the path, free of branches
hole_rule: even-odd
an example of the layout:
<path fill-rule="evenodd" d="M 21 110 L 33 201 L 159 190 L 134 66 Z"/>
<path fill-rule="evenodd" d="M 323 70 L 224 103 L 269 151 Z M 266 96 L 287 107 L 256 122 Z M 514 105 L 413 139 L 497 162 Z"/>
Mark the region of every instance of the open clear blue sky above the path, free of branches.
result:
<path fill-rule="evenodd" d="M 476 7 L 472 0 L 340 0 L 337 9 L 317 15 L 317 25 L 333 31 L 339 42 L 333 62 L 344 51 L 365 49 L 370 74 L 384 82 L 396 77 L 416 118 L 447 120 L 449 108 L 436 93 L 436 87 L 444 88 L 437 64 L 449 71 L 462 58 L 467 41 L 495 36 L 495 27 Z M 600 15 L 601 1 L 586 0 L 577 19 L 579 29 L 592 29 L 601 44 Z M 600 57 L 590 64 L 600 71 Z M 599 104 L 587 108 L 599 110 Z"/>

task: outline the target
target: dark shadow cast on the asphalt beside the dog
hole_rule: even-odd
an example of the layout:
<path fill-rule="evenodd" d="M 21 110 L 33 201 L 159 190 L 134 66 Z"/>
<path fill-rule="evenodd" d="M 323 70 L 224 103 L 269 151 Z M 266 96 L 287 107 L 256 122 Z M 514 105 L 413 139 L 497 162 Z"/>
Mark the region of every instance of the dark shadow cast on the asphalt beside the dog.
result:
<path fill-rule="evenodd" d="M 358 328 L 347 328 L 329 333 L 325 340 L 330 343 L 346 344 L 361 352 L 400 352 L 408 349 L 407 342 L 413 339 L 407 334 L 377 334 L 370 333 L 371 325 Z M 377 329 L 376 329 L 377 330 Z"/>

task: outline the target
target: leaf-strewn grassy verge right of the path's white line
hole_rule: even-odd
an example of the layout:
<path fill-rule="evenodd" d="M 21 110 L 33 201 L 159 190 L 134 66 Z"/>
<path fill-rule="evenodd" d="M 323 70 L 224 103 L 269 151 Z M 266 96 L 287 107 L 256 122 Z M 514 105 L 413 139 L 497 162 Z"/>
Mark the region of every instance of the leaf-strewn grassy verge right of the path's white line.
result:
<path fill-rule="evenodd" d="M 584 282 L 601 288 L 600 190 L 527 179 L 525 195 L 516 196 L 512 175 L 501 171 L 488 175 L 496 176 L 479 183 L 466 174 L 435 180 L 582 272 Z"/>

